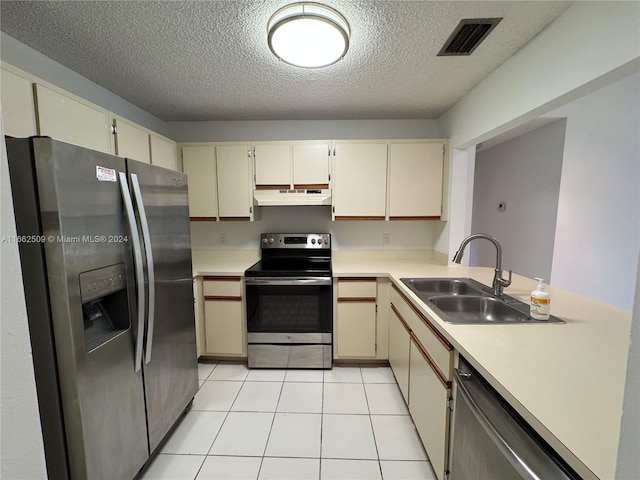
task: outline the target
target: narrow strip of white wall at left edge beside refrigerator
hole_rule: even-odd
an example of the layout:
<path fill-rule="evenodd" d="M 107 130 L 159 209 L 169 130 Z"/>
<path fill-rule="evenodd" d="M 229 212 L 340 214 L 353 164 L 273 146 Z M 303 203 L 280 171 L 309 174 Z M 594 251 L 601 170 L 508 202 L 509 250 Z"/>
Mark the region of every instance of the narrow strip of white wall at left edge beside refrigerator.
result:
<path fill-rule="evenodd" d="M 0 115 L 0 231 L 11 239 L 16 226 L 3 132 Z M 46 478 L 20 257 L 11 241 L 0 244 L 0 297 L 0 478 Z"/>

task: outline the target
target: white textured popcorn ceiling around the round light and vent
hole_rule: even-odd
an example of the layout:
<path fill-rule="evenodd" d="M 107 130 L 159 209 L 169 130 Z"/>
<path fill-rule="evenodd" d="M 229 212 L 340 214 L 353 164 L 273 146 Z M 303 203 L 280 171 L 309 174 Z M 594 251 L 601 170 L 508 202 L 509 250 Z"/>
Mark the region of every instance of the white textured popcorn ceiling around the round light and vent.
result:
<path fill-rule="evenodd" d="M 437 118 L 571 2 L 330 0 L 345 58 L 279 62 L 269 17 L 294 0 L 0 2 L 2 31 L 163 120 Z M 504 17 L 469 57 L 437 57 L 463 18 Z"/>

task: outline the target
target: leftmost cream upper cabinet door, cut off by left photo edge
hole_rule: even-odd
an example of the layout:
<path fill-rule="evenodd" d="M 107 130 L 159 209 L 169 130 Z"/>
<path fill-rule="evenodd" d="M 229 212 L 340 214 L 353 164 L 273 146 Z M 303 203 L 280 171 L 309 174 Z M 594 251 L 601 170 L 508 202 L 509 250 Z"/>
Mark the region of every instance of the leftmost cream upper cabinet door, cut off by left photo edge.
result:
<path fill-rule="evenodd" d="M 4 66 L 0 71 L 0 75 L 4 134 L 11 137 L 37 135 L 31 80 L 8 70 Z"/>

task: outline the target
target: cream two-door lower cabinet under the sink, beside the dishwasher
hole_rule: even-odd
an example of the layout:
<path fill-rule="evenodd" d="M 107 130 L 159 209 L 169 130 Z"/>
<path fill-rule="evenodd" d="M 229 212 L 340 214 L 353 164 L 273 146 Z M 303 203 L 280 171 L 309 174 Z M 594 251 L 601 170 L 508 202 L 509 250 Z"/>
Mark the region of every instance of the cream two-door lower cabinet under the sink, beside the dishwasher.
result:
<path fill-rule="evenodd" d="M 389 298 L 389 363 L 436 476 L 444 480 L 453 346 L 395 285 Z"/>

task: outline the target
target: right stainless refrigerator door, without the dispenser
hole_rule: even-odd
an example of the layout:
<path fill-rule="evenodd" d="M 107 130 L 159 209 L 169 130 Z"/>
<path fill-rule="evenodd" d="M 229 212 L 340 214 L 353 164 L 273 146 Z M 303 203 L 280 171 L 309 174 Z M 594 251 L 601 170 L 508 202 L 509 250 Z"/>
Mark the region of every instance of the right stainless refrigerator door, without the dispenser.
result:
<path fill-rule="evenodd" d="M 152 353 L 143 365 L 153 452 L 198 389 L 187 179 L 134 160 L 127 168 L 140 186 L 154 259 Z"/>

